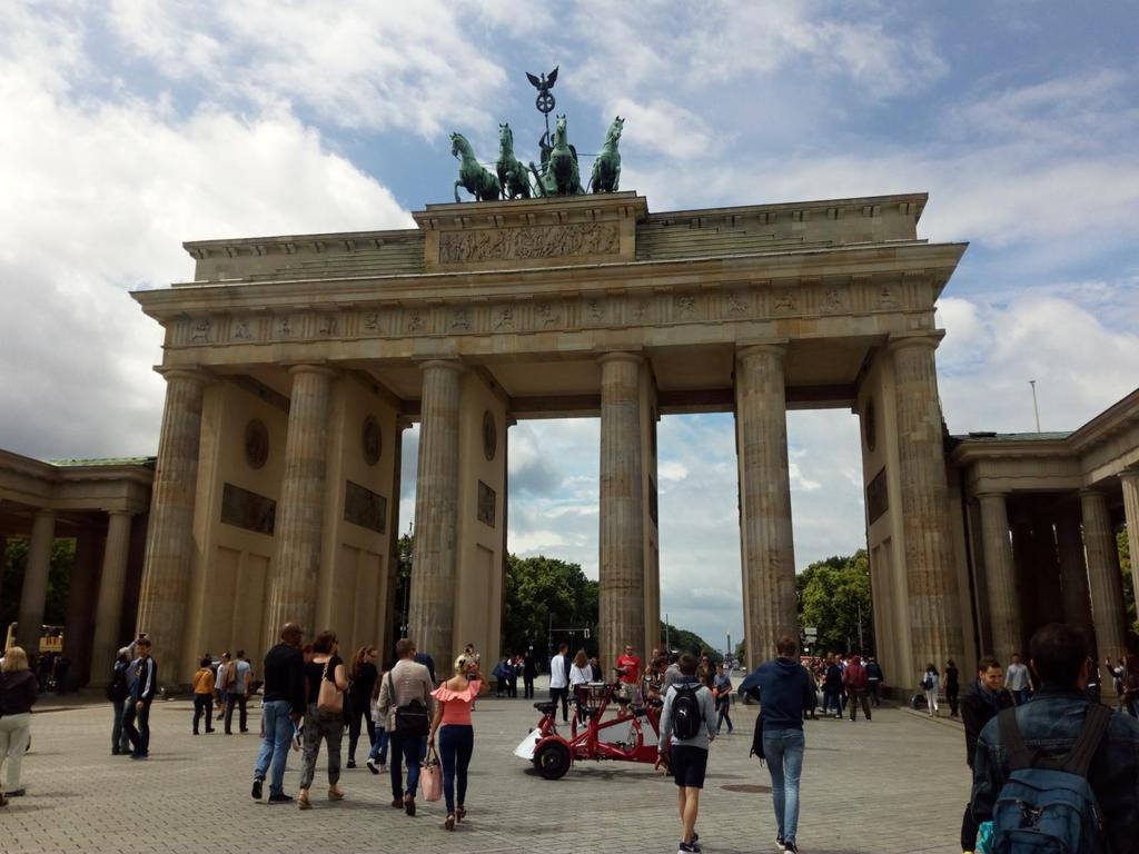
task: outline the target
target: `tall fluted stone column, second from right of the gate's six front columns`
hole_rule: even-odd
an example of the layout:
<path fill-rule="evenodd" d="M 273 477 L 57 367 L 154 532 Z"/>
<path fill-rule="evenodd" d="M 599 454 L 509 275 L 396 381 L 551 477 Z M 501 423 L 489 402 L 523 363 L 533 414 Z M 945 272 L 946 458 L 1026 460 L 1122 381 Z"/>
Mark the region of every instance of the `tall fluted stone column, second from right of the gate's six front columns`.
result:
<path fill-rule="evenodd" d="M 798 640 L 785 354 L 784 344 L 759 344 L 736 356 L 744 634 L 753 665 L 775 655 L 779 635 Z"/>

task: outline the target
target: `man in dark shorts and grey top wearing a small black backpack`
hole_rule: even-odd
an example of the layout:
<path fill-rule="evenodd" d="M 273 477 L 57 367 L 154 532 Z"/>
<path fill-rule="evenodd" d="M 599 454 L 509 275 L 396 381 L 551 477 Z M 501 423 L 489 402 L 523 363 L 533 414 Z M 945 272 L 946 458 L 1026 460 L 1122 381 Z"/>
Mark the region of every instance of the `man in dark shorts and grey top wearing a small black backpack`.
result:
<path fill-rule="evenodd" d="M 700 806 L 700 789 L 708 764 L 708 745 L 715 738 L 715 701 L 707 685 L 696 678 L 696 657 L 680 657 L 680 680 L 669 688 L 661 712 L 661 742 L 657 748 L 669 754 L 672 779 L 677 783 L 677 808 L 680 812 L 678 854 L 700 849 L 696 834 L 696 814 Z"/>

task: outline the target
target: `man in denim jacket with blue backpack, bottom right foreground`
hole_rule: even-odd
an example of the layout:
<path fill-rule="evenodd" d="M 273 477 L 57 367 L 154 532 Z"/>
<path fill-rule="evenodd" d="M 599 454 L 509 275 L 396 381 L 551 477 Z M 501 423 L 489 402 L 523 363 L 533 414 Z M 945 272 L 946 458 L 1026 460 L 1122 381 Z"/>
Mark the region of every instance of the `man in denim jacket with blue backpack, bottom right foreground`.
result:
<path fill-rule="evenodd" d="M 1008 854 L 1133 851 L 1139 722 L 1084 698 L 1092 665 L 1079 626 L 1046 625 L 1029 652 L 1040 690 L 981 731 L 973 818 L 992 821 L 994 849 Z"/>

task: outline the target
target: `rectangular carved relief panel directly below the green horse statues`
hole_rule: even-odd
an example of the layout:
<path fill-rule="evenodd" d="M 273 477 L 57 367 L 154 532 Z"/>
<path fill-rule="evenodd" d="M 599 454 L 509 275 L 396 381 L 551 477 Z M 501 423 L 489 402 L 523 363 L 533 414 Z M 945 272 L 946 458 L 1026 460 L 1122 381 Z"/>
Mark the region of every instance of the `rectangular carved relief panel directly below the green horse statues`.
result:
<path fill-rule="evenodd" d="M 618 227 L 606 222 L 444 231 L 439 238 L 441 264 L 616 255 L 620 251 Z"/>

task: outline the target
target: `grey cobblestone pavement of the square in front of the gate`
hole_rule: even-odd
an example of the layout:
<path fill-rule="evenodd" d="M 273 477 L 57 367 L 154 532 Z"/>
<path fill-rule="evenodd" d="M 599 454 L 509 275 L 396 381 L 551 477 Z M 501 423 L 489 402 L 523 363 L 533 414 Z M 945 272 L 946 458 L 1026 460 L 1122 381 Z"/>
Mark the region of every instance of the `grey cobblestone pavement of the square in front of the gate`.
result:
<path fill-rule="evenodd" d="M 542 696 L 542 692 L 539 692 Z M 697 828 L 708 854 L 775 851 L 767 770 L 748 758 L 755 707 L 712 745 Z M 671 780 L 649 765 L 583 763 L 547 781 L 513 755 L 538 713 L 523 699 L 484 698 L 475 712 L 468 820 L 442 829 L 445 808 L 393 810 L 386 777 L 345 770 L 331 804 L 318 767 L 314 804 L 249 797 L 259 739 L 190 734 L 190 704 L 156 703 L 150 758 L 112 756 L 108 704 L 36 714 L 24 763 L 27 796 L 0 811 L 2 852 L 674 852 Z M 236 729 L 236 722 L 235 722 Z M 367 741 L 367 738 L 364 738 Z M 899 708 L 874 721 L 806 724 L 798 840 L 806 854 L 959 852 L 968 773 L 960 728 Z M 347 746 L 347 738 L 344 741 Z M 300 754 L 286 791 L 296 793 Z M 762 787 L 762 790 L 761 790 Z M 268 795 L 268 788 L 267 788 Z"/>

